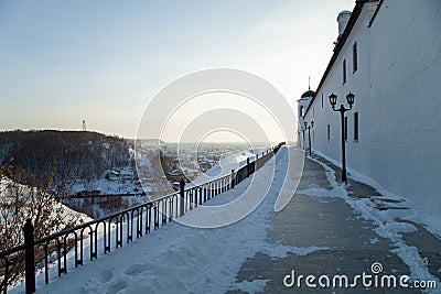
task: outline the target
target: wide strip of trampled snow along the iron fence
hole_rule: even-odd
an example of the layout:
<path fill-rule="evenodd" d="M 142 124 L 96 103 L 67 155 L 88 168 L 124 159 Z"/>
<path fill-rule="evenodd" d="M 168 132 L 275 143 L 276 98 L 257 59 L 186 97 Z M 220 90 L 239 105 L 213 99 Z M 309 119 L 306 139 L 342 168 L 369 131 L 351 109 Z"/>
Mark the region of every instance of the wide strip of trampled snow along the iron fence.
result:
<path fill-rule="evenodd" d="M 49 285 L 37 279 L 37 293 L 224 293 L 237 288 L 235 277 L 247 258 L 262 250 L 277 250 L 266 243 L 266 235 L 288 165 L 287 148 L 276 157 L 275 182 L 268 196 L 240 221 L 217 229 L 169 224 L 61 279 L 55 277 Z M 272 177 L 273 168 L 271 160 L 254 175 L 255 183 L 248 190 L 251 178 L 207 205 L 228 203 L 241 193 L 266 190 L 262 185 Z M 185 217 L 197 217 L 197 210 Z"/>

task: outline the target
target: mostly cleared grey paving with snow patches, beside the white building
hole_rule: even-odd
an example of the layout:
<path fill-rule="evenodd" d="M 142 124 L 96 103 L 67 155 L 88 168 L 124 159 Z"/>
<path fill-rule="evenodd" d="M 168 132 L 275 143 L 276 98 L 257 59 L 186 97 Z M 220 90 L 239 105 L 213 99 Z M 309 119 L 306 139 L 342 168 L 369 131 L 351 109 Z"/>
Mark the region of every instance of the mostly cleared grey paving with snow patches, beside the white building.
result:
<path fill-rule="evenodd" d="M 423 220 L 422 211 L 354 179 L 343 188 L 335 182 L 335 172 L 340 171 L 324 159 L 315 159 L 305 161 L 294 198 L 271 216 L 267 242 L 284 250 L 278 251 L 281 254 L 263 250 L 248 259 L 234 284 L 239 290 L 228 293 L 421 293 L 402 288 L 399 282 L 397 288 L 387 287 L 386 282 L 381 287 L 384 275 L 395 275 L 397 281 L 402 275 L 409 275 L 410 281 L 435 281 L 437 288 L 427 292 L 440 293 L 441 240 L 416 222 Z M 439 230 L 439 226 L 432 229 Z M 373 274 L 373 264 L 383 270 Z M 292 287 L 288 287 L 283 280 L 292 276 L 292 271 L 295 283 L 292 285 L 289 277 L 286 281 Z M 348 276 L 351 285 L 363 272 L 373 276 L 370 286 L 364 286 L 362 280 L 355 288 L 332 286 L 334 276 Z M 316 277 L 312 283 L 316 287 L 306 286 L 305 276 L 310 274 Z M 303 280 L 297 283 L 300 275 Z M 330 287 L 319 284 L 322 275 L 331 279 Z M 378 286 L 374 276 L 380 281 Z"/>

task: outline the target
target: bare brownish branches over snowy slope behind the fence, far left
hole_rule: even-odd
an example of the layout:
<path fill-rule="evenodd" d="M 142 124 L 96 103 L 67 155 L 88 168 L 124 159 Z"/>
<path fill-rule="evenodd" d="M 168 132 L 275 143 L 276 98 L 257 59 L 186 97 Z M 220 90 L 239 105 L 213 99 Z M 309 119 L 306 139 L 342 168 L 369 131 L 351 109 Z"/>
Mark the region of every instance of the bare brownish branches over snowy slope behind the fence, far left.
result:
<path fill-rule="evenodd" d="M 0 251 L 23 243 L 22 228 L 26 219 L 32 220 L 35 240 L 80 222 L 78 213 L 61 204 L 67 189 L 63 184 L 53 186 L 53 172 L 39 182 L 35 176 L 26 176 L 30 184 L 23 185 L 23 170 L 14 170 L 12 162 L 0 166 Z M 35 252 L 39 258 L 39 250 Z M 1 291 L 23 273 L 24 252 L 15 258 Z"/>

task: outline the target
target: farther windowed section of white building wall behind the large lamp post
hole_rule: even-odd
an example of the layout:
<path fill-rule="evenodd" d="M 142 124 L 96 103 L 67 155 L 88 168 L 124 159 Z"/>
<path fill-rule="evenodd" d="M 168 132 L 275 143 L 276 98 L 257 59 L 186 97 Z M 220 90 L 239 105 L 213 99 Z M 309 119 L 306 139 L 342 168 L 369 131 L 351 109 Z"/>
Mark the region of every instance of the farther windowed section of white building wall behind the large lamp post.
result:
<path fill-rule="evenodd" d="M 318 150 L 333 160 L 341 162 L 341 117 L 340 112 L 332 110 L 329 96 L 334 92 L 338 96 L 336 109 L 341 104 L 347 108 L 346 95 L 355 94 L 353 109 L 346 111 L 347 117 L 347 141 L 346 157 L 347 167 L 353 168 L 366 176 L 372 176 L 370 171 L 370 42 L 367 25 L 375 11 L 376 4 L 365 4 L 358 22 L 355 24 L 352 34 L 346 40 L 334 66 L 327 75 L 326 80 L 319 89 L 306 120 L 313 119 L 314 141 L 313 150 Z M 357 43 L 357 70 L 353 72 L 353 45 Z M 346 83 L 343 84 L 343 61 L 346 59 Z M 323 96 L 323 104 L 322 104 Z M 354 113 L 358 112 L 359 140 L 354 140 Z M 327 140 L 327 124 L 331 127 L 331 138 Z M 363 155 L 361 155 L 363 154 Z"/>

